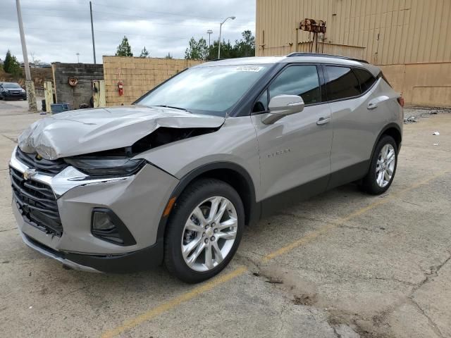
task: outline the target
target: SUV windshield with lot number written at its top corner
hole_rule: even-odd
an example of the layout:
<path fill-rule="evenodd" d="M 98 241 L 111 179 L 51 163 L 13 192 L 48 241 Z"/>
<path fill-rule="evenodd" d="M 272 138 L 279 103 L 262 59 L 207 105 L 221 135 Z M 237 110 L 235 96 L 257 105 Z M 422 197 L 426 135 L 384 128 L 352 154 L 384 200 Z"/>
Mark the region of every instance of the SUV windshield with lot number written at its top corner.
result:
<path fill-rule="evenodd" d="M 135 102 L 192 113 L 225 116 L 264 73 L 268 65 L 190 68 Z"/>

